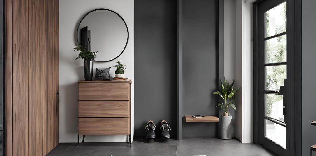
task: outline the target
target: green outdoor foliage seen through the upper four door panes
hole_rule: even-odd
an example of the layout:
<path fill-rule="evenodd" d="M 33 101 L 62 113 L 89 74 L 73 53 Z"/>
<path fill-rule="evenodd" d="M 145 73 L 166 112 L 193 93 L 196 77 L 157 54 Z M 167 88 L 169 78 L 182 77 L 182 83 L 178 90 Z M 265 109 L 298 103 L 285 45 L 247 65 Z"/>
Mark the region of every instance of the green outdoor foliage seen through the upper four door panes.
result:
<path fill-rule="evenodd" d="M 266 34 L 279 34 L 286 32 L 286 2 L 279 6 L 279 10 L 282 21 L 285 21 L 281 25 L 276 26 L 274 29 L 270 29 L 270 22 L 276 15 L 269 14 L 267 11 L 266 16 Z M 273 19 L 276 20 L 276 19 Z M 276 22 L 276 21 L 273 21 Z M 273 24 L 273 23 L 272 23 Z M 275 32 L 269 32 L 273 30 Z M 286 35 L 282 35 L 276 38 L 266 40 L 266 55 L 265 63 L 277 63 L 286 62 Z M 286 65 L 269 66 L 266 67 L 266 88 L 265 90 L 279 91 L 280 86 L 284 85 L 284 79 L 286 79 Z M 278 101 L 283 99 L 281 95 L 265 94 L 266 99 L 266 116 L 271 116 L 272 107 Z"/>

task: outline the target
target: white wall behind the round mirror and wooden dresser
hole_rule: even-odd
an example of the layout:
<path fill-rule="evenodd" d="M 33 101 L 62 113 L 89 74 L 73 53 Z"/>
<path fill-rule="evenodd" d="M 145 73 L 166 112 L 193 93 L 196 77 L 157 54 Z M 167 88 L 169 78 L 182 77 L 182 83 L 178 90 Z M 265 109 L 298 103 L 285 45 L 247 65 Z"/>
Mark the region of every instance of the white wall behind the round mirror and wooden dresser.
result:
<path fill-rule="evenodd" d="M 77 142 L 78 84 L 83 80 L 83 60 L 75 60 L 76 28 L 82 16 L 93 9 L 105 8 L 117 12 L 129 29 L 129 42 L 123 54 L 107 63 L 94 62 L 96 68 L 107 68 L 122 60 L 125 77 L 134 78 L 134 0 L 62 0 L 59 2 L 59 142 Z M 115 69 L 110 70 L 115 77 Z M 134 128 L 134 84 L 131 95 L 131 127 Z M 86 135 L 86 142 L 126 142 L 126 135 Z"/>

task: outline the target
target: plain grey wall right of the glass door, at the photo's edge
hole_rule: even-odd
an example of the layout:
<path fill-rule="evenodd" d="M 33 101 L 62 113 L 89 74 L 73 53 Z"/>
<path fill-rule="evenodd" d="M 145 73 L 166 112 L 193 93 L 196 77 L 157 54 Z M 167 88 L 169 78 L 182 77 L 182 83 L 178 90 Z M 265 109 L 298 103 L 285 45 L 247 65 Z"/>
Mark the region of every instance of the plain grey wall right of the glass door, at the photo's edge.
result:
<path fill-rule="evenodd" d="M 311 125 L 316 120 L 315 6 L 315 0 L 302 0 L 302 156 L 310 155 L 310 147 L 316 144 L 316 126 Z"/>

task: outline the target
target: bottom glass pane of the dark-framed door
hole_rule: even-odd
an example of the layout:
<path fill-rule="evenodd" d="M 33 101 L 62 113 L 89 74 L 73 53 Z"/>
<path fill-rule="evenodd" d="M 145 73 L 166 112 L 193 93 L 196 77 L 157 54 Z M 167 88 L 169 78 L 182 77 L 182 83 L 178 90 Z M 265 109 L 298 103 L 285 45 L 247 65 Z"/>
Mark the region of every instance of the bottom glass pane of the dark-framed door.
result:
<path fill-rule="evenodd" d="M 286 127 L 265 120 L 265 137 L 286 149 Z"/>

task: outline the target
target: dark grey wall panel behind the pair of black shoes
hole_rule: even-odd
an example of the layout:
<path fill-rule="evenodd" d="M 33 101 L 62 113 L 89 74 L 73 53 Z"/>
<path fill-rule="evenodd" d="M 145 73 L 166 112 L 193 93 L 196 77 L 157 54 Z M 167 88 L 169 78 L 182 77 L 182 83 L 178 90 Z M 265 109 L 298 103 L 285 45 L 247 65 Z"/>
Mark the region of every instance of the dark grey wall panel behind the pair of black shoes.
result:
<path fill-rule="evenodd" d="M 176 0 L 134 0 L 134 79 L 134 136 L 166 120 L 177 138 Z"/>

